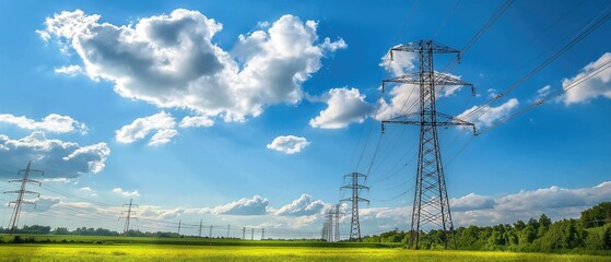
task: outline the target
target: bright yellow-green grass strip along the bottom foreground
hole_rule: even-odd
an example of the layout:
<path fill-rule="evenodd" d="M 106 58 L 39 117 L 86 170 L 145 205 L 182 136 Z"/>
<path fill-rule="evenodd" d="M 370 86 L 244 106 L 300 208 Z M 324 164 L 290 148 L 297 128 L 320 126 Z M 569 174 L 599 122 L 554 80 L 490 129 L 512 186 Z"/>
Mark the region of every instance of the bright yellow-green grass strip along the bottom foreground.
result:
<path fill-rule="evenodd" d="M 0 261 L 465 261 L 608 262 L 611 257 L 401 248 L 236 247 L 184 245 L 0 245 Z"/>

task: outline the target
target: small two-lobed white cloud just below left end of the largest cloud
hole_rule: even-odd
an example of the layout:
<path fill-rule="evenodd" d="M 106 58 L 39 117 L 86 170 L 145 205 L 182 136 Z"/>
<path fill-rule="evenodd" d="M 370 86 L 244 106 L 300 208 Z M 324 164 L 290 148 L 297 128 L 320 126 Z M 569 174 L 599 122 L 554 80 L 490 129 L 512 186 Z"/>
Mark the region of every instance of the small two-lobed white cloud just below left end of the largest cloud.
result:
<path fill-rule="evenodd" d="M 115 139 L 119 143 L 129 144 L 155 132 L 149 141 L 149 145 L 156 146 L 168 143 L 178 134 L 175 127 L 174 118 L 169 114 L 161 111 L 150 117 L 138 118 L 130 124 L 124 126 L 115 132 Z"/>

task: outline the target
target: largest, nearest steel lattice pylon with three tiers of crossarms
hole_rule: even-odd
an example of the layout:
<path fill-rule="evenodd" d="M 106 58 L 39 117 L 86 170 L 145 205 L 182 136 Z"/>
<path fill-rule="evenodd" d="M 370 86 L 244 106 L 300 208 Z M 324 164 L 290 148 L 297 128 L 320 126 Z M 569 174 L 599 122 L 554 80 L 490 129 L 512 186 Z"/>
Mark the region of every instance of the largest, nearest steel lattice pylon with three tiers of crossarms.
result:
<path fill-rule="evenodd" d="M 383 132 L 385 123 L 420 126 L 410 247 L 418 249 L 419 236 L 423 226 L 431 224 L 443 230 L 442 240 L 447 249 L 448 239 L 450 235 L 454 235 L 454 225 L 442 165 L 437 127 L 467 126 L 473 128 L 473 132 L 475 132 L 475 127 L 473 123 L 438 112 L 435 109 L 435 86 L 469 85 L 474 93 L 473 85 L 449 74 L 435 72 L 433 55 L 457 53 L 460 59 L 460 51 L 454 48 L 433 40 L 420 40 L 393 47 L 390 49 L 391 58 L 395 51 L 415 52 L 420 60 L 420 72 L 383 81 L 383 92 L 386 83 L 413 84 L 420 91 L 420 109 L 418 111 L 407 112 L 381 122 Z"/>

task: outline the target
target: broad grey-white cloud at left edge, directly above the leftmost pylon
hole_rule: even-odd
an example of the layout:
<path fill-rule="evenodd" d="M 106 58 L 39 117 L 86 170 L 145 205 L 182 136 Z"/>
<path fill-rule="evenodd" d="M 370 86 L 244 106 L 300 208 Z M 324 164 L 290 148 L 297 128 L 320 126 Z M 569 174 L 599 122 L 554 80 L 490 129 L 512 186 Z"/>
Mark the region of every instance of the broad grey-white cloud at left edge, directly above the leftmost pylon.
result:
<path fill-rule="evenodd" d="M 110 150 L 106 143 L 80 146 L 73 142 L 49 140 L 42 131 L 35 131 L 20 140 L 0 134 L 0 165 L 25 168 L 32 160 L 36 169 L 45 171 L 46 178 L 74 178 L 82 174 L 104 170 Z M 13 174 L 1 174 L 9 176 Z"/>

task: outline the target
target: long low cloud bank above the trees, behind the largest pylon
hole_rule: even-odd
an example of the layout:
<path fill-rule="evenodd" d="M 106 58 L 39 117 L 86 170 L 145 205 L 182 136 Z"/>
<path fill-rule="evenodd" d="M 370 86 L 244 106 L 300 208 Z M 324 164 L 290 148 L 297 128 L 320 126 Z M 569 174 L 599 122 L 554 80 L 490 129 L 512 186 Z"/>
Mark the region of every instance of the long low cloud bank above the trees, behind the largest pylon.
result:
<path fill-rule="evenodd" d="M 611 198 L 611 181 L 591 188 L 556 186 L 502 195 L 469 193 L 451 199 L 455 226 L 495 225 L 538 218 L 577 218 L 580 212 Z M 537 201 L 532 201 L 537 200 Z M 374 231 L 409 228 L 412 206 L 360 209 L 361 226 Z"/>

